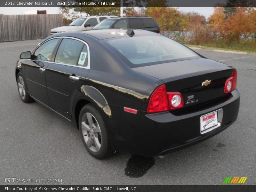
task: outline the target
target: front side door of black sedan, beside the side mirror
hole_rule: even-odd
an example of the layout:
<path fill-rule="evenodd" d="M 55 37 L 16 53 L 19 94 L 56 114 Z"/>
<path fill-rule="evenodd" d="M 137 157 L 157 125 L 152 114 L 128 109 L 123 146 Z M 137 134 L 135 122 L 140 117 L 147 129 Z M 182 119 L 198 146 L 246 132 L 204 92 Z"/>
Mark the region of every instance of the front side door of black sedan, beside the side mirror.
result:
<path fill-rule="evenodd" d="M 55 47 L 60 39 L 44 42 L 32 52 L 25 64 L 25 81 L 29 95 L 49 106 L 46 90 L 45 68 L 49 65 Z"/>

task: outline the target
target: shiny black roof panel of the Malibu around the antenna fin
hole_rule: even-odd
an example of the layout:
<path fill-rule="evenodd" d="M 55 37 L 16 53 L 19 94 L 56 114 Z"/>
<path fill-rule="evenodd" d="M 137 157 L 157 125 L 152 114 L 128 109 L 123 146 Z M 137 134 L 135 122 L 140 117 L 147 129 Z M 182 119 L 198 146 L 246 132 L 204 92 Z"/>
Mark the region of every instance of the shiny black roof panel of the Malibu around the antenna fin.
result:
<path fill-rule="evenodd" d="M 88 30 L 88 31 L 80 31 L 77 33 L 84 33 L 90 36 L 95 37 L 96 39 L 109 39 L 114 37 L 128 36 L 126 31 L 129 29 L 96 29 L 96 30 Z M 159 35 L 157 33 L 141 30 L 141 29 L 132 29 L 134 31 L 134 36 L 137 35 Z"/>

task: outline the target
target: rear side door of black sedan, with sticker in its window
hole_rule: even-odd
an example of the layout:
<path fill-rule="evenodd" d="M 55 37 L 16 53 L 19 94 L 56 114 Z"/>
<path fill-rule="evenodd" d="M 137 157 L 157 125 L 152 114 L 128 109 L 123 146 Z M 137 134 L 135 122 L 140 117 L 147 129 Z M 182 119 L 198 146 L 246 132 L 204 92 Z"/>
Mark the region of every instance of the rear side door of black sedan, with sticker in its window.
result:
<path fill-rule="evenodd" d="M 65 37 L 53 57 L 46 70 L 50 107 L 70 119 L 76 93 L 90 70 L 89 46 L 80 39 Z"/>

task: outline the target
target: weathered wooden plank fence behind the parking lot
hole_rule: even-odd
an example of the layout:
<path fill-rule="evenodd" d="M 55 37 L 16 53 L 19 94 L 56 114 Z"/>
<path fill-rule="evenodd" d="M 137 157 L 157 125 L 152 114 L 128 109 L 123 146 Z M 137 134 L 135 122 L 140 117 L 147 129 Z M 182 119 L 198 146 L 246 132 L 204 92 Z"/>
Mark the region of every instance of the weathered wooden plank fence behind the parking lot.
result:
<path fill-rule="evenodd" d="M 0 42 L 46 38 L 60 26 L 62 14 L 0 15 Z"/>

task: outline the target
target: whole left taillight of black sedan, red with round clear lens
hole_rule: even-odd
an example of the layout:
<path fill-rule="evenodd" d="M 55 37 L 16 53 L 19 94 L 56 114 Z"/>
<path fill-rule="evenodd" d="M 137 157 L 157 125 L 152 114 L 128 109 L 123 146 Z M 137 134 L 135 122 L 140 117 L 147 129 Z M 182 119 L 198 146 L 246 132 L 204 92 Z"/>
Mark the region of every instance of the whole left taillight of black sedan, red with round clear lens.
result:
<path fill-rule="evenodd" d="M 168 111 L 183 107 L 183 98 L 179 92 L 166 92 L 165 85 L 161 85 L 152 93 L 147 113 Z"/>

